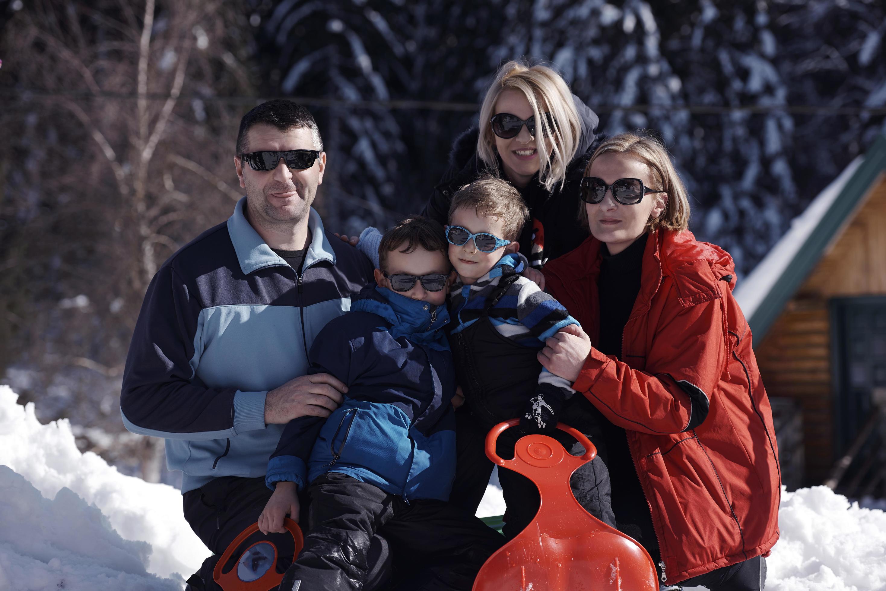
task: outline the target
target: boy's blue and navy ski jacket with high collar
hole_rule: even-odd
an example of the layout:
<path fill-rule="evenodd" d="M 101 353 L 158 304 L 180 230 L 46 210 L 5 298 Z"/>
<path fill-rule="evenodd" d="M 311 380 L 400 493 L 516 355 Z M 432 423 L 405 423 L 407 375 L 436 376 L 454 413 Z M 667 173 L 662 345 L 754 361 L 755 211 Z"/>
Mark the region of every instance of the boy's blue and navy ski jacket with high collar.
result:
<path fill-rule="evenodd" d="M 286 425 L 265 482 L 299 489 L 334 471 L 404 499 L 447 501 L 455 478 L 455 371 L 445 306 L 365 288 L 311 347 L 312 372 L 348 386 L 328 418 Z"/>

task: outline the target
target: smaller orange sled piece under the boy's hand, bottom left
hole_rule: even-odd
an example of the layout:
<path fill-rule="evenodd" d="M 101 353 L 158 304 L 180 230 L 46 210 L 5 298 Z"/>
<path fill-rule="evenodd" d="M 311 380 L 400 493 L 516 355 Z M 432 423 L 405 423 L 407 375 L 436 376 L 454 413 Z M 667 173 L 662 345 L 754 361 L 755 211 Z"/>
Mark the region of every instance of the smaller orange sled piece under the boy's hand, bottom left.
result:
<path fill-rule="evenodd" d="M 299 525 L 284 519 L 286 533 L 262 536 L 253 524 L 225 548 L 213 569 L 213 579 L 224 591 L 271 591 L 283 580 L 285 566 L 295 561 L 305 545 Z M 237 559 L 234 559 L 237 556 Z M 288 558 L 284 563 L 277 561 Z"/>

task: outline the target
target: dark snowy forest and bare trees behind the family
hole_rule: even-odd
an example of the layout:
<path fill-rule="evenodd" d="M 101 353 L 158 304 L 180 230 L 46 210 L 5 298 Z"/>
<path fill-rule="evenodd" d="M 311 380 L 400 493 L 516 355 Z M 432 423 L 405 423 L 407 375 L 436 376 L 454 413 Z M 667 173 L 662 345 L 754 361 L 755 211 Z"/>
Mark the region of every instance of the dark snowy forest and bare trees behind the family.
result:
<path fill-rule="evenodd" d="M 545 60 L 600 115 L 653 128 L 692 229 L 741 275 L 886 131 L 874 0 L 0 0 L 0 383 L 121 470 L 120 373 L 153 273 L 240 195 L 239 118 L 315 113 L 330 229 L 416 211 L 495 69 Z"/>

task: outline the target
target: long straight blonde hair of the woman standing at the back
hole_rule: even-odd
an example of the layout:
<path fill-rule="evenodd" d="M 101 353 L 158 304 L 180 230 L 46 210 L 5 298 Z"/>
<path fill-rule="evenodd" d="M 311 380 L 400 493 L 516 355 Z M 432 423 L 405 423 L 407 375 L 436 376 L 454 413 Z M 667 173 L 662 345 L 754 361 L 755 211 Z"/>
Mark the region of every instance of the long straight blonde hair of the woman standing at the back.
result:
<path fill-rule="evenodd" d="M 539 150 L 539 183 L 547 190 L 553 191 L 559 184 L 563 187 L 566 181 L 566 167 L 569 166 L 575 152 L 579 149 L 581 137 L 581 121 L 575 108 L 569 86 L 563 76 L 548 66 L 529 66 L 524 62 L 509 61 L 499 68 L 495 80 L 486 90 L 483 105 L 480 106 L 480 134 L 477 139 L 477 153 L 486 164 L 487 169 L 501 176 L 498 160 L 495 158 L 495 137 L 489 121 L 493 118 L 495 102 L 503 90 L 521 91 L 535 117 L 536 135 L 551 138 L 553 153 Z M 540 105 L 544 105 L 551 114 L 554 127 L 548 124 L 548 118 L 542 115 Z"/>

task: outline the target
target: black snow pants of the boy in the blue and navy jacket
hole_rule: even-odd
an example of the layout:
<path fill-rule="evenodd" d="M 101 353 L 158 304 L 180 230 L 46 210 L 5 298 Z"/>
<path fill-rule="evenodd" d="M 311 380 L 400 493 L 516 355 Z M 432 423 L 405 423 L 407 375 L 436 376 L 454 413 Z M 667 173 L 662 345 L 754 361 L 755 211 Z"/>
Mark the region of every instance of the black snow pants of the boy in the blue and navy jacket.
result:
<path fill-rule="evenodd" d="M 379 533 L 408 552 L 416 568 L 398 573 L 404 591 L 470 591 L 486 558 L 504 538 L 477 517 L 431 499 L 404 501 L 377 486 L 328 472 L 308 488 L 305 548 L 281 589 L 343 591 L 363 588 L 369 540 Z M 300 587 L 298 581 L 302 581 Z"/>

